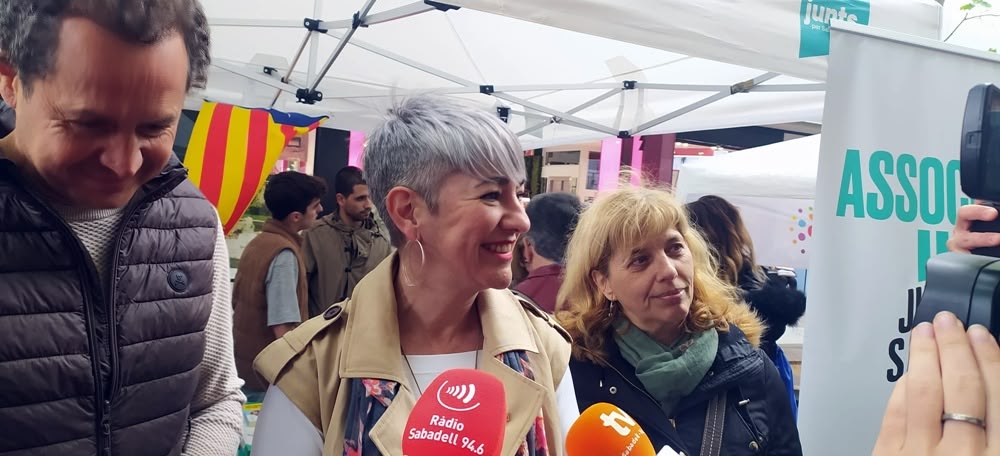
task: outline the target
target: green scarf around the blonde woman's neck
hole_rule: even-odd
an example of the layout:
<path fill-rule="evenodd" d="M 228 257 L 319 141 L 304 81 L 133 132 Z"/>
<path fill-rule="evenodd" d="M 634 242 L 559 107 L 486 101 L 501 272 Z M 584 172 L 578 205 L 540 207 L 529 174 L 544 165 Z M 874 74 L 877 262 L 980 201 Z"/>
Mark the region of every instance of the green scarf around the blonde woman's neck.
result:
<path fill-rule="evenodd" d="M 618 317 L 615 329 L 615 342 L 622 356 L 635 366 L 642 386 L 668 416 L 705 378 L 719 350 L 719 333 L 715 329 L 684 333 L 669 347 L 649 337 L 624 316 Z"/>

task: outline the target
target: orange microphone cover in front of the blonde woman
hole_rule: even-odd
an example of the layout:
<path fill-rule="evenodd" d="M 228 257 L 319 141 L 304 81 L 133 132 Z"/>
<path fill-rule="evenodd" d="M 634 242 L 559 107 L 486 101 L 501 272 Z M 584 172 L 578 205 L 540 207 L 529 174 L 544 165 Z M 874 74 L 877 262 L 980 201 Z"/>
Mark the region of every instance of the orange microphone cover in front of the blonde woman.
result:
<path fill-rule="evenodd" d="M 669 454 L 669 453 L 665 453 Z M 566 433 L 566 456 L 656 456 L 646 431 L 625 411 L 598 402 Z"/>

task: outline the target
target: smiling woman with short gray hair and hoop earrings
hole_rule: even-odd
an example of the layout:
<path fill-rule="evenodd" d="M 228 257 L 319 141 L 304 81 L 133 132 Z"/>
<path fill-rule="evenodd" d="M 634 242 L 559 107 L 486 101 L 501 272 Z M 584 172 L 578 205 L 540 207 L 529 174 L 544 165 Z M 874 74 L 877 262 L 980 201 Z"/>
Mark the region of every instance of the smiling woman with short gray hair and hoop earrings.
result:
<path fill-rule="evenodd" d="M 403 454 L 417 398 L 456 368 L 503 383 L 502 454 L 563 454 L 579 415 L 569 337 L 506 289 L 529 228 L 517 137 L 486 111 L 410 98 L 370 136 L 364 171 L 397 252 L 257 358 L 272 386 L 253 454 Z"/>

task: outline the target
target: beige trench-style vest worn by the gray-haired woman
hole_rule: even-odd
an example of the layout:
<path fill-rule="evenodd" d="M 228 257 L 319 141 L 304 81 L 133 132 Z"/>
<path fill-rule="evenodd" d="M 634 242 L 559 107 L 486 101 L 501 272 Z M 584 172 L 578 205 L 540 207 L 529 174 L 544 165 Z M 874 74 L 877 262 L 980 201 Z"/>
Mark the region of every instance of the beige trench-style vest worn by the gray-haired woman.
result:
<path fill-rule="evenodd" d="M 403 428 L 416 403 L 400 350 L 393 277 L 394 254 L 365 277 L 352 297 L 287 333 L 257 357 L 254 367 L 313 422 L 324 436 L 323 454 L 341 456 L 347 417 L 348 378 L 400 383 L 385 415 L 369 432 L 386 456 L 402 453 Z M 552 455 L 563 454 L 555 390 L 570 357 L 569 335 L 545 312 L 518 300 L 509 290 L 486 290 L 477 298 L 483 326 L 480 369 L 498 378 L 507 394 L 504 455 L 514 455 L 539 408 Z M 524 350 L 535 381 L 504 365 L 497 355 Z M 343 400 L 338 400 L 343 398 Z"/>

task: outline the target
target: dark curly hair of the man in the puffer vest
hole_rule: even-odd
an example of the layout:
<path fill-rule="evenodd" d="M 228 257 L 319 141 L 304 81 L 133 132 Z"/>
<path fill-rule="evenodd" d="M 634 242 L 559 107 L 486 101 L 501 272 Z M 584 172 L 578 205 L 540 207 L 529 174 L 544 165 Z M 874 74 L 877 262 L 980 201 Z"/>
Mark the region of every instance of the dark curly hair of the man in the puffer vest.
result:
<path fill-rule="evenodd" d="M 52 71 L 67 17 L 89 19 L 137 44 L 177 32 L 188 53 L 188 90 L 208 80 L 211 40 L 199 0 L 0 0 L 0 60 L 14 67 L 28 93 Z"/>

